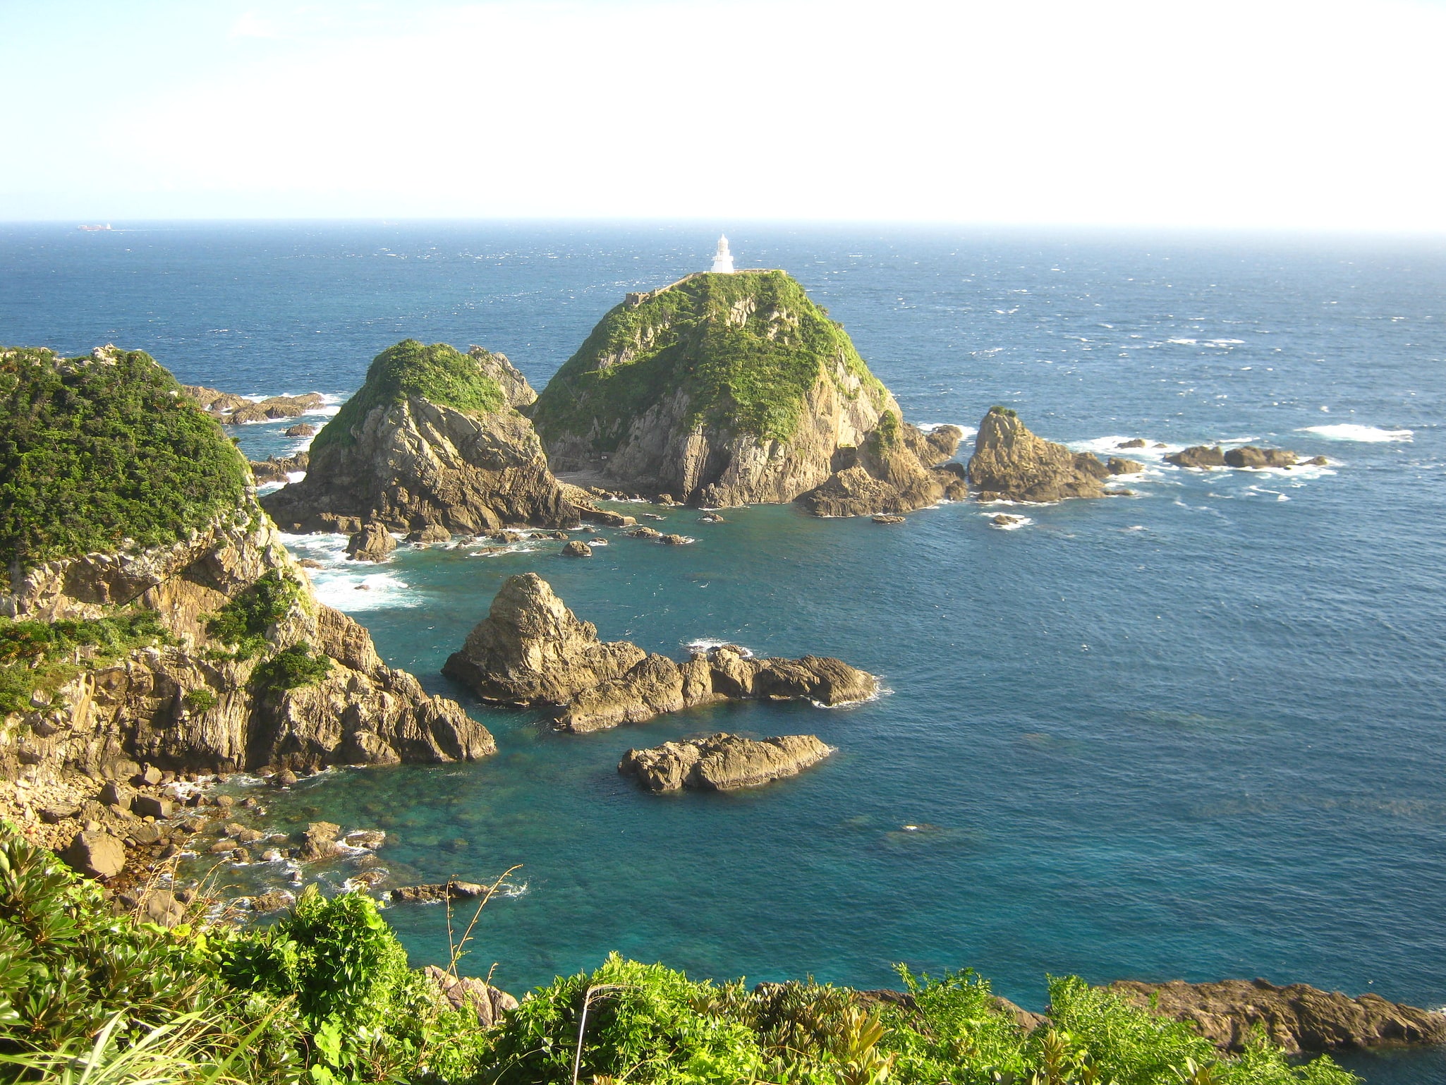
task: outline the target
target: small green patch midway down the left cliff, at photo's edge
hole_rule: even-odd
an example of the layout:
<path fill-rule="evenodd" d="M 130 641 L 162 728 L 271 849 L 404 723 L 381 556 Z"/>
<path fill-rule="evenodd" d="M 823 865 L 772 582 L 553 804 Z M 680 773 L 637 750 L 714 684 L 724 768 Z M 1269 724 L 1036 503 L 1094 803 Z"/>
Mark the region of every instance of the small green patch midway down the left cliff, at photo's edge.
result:
<path fill-rule="evenodd" d="M 82 668 L 169 639 L 153 610 L 120 610 L 93 621 L 0 618 L 0 715 L 27 710 L 36 690 L 49 699 Z"/>

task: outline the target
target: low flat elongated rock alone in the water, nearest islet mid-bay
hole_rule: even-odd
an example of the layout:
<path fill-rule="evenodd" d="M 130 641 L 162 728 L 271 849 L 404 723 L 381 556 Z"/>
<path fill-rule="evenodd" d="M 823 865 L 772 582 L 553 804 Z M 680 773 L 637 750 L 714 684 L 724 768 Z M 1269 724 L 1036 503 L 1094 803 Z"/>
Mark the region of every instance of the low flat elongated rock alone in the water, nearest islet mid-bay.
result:
<path fill-rule="evenodd" d="M 833 751 L 814 735 L 778 735 L 761 742 L 717 733 L 690 742 L 629 749 L 617 765 L 649 791 L 732 791 L 797 775 Z"/>

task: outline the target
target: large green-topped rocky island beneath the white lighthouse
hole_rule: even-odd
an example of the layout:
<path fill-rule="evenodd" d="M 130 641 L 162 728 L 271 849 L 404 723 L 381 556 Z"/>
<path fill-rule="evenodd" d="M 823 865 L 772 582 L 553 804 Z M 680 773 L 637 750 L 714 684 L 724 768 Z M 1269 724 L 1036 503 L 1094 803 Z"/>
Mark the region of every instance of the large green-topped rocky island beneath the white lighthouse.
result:
<path fill-rule="evenodd" d="M 953 488 L 959 431 L 902 421 L 843 327 L 781 271 L 700 273 L 633 294 L 531 408 L 552 469 L 693 505 L 908 511 Z"/>

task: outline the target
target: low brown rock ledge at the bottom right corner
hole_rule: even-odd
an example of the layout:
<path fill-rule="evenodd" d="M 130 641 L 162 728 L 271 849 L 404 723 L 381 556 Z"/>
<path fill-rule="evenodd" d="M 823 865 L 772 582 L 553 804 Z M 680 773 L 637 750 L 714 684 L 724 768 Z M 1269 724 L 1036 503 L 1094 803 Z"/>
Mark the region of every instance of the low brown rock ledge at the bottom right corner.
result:
<path fill-rule="evenodd" d="M 1106 990 L 1165 1017 L 1190 1021 L 1220 1050 L 1241 1052 L 1254 1026 L 1288 1053 L 1390 1044 L 1446 1043 L 1446 1014 L 1390 1003 L 1375 994 L 1356 998 L 1306 984 L 1275 987 L 1264 979 L 1216 984 L 1144 984 L 1121 979 Z"/>

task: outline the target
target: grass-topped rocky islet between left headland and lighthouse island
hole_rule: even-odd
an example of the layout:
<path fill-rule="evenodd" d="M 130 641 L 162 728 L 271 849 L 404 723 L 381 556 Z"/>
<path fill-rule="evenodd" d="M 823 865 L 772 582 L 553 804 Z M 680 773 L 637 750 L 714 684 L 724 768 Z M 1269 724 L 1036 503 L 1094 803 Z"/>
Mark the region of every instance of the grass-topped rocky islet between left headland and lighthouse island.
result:
<path fill-rule="evenodd" d="M 399 343 L 317 434 L 307 477 L 262 503 L 292 531 L 576 527 L 580 509 L 512 405 L 531 391 L 500 354 Z"/>

